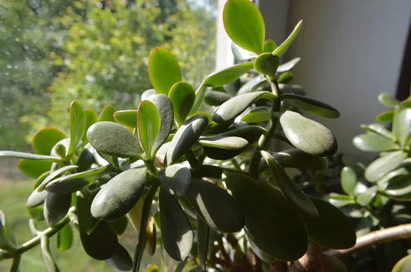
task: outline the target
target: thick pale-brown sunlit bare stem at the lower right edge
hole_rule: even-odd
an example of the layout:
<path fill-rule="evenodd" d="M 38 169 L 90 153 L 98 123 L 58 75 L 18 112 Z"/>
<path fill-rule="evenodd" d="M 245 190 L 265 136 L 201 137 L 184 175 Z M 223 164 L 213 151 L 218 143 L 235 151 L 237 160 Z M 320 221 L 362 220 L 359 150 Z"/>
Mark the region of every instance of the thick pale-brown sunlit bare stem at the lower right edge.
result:
<path fill-rule="evenodd" d="M 411 223 L 386 228 L 384 230 L 376 230 L 357 239 L 356 245 L 349 249 L 328 250 L 324 254 L 344 258 L 350 254 L 357 253 L 373 245 L 381 245 L 393 240 L 411 238 Z"/>

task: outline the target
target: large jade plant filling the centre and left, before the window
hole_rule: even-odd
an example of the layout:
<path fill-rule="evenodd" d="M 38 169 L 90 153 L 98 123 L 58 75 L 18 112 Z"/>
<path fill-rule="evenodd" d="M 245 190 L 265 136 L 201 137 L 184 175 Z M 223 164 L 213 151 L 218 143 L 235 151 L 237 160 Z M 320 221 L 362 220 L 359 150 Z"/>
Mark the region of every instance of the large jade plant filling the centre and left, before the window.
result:
<path fill-rule="evenodd" d="M 69 249 L 73 227 L 86 254 L 119 271 L 138 271 L 143 251 L 156 247 L 181 262 L 179 271 L 251 271 L 298 260 L 309 241 L 329 249 L 356 243 L 349 219 L 286 173 L 325 169 L 338 148 L 328 128 L 303 115 L 337 118 L 338 111 L 288 84 L 299 59 L 280 65 L 302 22 L 277 46 L 264 40 L 262 15 L 248 0 L 227 1 L 223 20 L 240 64 L 210 74 L 197 90 L 158 47 L 149 55 L 153 89 L 136 110 L 107 106 L 97 115 L 73 102 L 69 135 L 42 128 L 35 154 L 0 152 L 20 158 L 21 172 L 36 178 L 26 203 L 34 238 L 16 245 L 0 217 L 0 259 L 12 258 L 12 271 L 37 245 L 47 269 L 58 271 L 49 238 Z M 272 141 L 292 148 L 274 152 Z M 138 232 L 134 258 L 119 243 L 127 222 Z"/>

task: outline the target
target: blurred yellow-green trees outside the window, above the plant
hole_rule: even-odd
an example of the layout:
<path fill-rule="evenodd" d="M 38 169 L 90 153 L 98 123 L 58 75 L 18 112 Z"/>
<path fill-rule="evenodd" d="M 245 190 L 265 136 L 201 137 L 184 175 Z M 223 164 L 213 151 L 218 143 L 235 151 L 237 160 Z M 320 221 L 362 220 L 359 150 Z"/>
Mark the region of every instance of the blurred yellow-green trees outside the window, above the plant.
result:
<path fill-rule="evenodd" d="M 136 109 L 147 59 L 164 46 L 183 79 L 214 71 L 216 0 L 0 0 L 0 150 L 29 150 L 42 126 L 68 128 L 72 100 Z"/>

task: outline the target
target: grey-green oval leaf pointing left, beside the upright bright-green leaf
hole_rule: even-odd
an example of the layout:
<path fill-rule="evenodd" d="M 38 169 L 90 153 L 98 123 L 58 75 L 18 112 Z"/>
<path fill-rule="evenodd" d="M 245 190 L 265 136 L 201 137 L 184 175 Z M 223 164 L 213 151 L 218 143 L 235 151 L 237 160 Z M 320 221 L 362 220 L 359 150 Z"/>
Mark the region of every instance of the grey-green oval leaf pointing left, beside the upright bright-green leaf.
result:
<path fill-rule="evenodd" d="M 87 139 L 97 151 L 114 157 L 138 157 L 144 151 L 127 128 L 114 122 L 97 122 L 88 128 Z"/>

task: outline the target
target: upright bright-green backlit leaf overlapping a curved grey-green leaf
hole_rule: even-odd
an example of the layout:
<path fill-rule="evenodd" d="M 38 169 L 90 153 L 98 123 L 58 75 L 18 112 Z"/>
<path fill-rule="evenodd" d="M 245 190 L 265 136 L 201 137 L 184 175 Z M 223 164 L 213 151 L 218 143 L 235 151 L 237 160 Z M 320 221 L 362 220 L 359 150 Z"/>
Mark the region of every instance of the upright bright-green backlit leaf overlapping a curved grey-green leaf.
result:
<path fill-rule="evenodd" d="M 141 101 L 137 113 L 138 137 L 148 158 L 151 156 L 151 149 L 160 132 L 160 123 L 160 113 L 157 107 L 149 100 Z"/>

